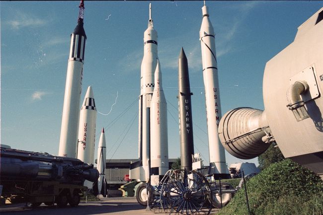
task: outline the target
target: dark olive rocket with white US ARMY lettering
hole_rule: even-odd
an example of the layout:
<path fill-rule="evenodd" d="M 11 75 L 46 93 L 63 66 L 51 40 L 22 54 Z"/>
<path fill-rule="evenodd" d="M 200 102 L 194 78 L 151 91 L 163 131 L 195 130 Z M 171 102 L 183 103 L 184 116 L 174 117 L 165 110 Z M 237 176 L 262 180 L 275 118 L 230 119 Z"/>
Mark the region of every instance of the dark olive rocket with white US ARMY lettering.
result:
<path fill-rule="evenodd" d="M 178 91 L 180 162 L 182 169 L 190 171 L 192 170 L 192 154 L 194 154 L 191 106 L 193 93 L 190 89 L 187 58 L 183 48 L 178 57 Z"/>

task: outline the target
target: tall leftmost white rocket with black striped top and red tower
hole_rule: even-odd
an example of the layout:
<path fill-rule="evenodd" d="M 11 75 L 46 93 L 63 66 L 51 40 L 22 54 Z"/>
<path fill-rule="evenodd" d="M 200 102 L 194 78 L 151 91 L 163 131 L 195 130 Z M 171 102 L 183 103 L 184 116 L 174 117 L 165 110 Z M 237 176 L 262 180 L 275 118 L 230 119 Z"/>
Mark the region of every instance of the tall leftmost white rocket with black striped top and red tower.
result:
<path fill-rule="evenodd" d="M 82 86 L 86 35 L 83 28 L 84 1 L 80 3 L 78 24 L 71 34 L 71 49 L 67 67 L 63 105 L 59 156 L 76 157 L 80 117 L 80 96 Z"/>

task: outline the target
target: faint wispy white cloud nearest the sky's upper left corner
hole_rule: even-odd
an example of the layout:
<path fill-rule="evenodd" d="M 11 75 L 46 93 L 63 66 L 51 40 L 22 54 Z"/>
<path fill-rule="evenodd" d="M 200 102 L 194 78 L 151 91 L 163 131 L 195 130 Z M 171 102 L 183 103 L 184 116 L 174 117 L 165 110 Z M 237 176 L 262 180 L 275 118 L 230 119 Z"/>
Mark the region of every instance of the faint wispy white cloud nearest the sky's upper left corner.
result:
<path fill-rule="evenodd" d="M 22 11 L 17 12 L 12 20 L 7 21 L 6 23 L 15 30 L 19 30 L 23 27 L 39 27 L 44 26 L 47 22 L 44 19 L 35 17 L 34 15 L 24 13 Z"/>

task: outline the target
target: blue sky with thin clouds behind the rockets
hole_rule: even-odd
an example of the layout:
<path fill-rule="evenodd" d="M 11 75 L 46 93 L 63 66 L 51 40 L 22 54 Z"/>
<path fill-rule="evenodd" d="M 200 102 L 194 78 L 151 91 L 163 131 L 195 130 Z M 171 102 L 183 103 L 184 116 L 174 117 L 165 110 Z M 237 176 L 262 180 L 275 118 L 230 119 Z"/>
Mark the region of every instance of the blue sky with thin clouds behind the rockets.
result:
<path fill-rule="evenodd" d="M 222 114 L 263 109 L 267 61 L 288 46 L 323 1 L 206 1 L 216 33 Z M 0 1 L 1 143 L 58 154 L 70 35 L 79 1 Z M 203 1 L 152 1 L 168 105 L 169 157 L 179 152 L 178 68 L 188 58 L 195 152 L 208 164 L 199 29 Z M 105 128 L 107 159 L 138 157 L 138 96 L 149 1 L 85 1 L 87 40 L 81 101 L 91 85 L 96 144 Z M 274 86 L 273 86 L 274 87 Z M 113 105 L 114 104 L 114 105 Z M 112 110 L 111 110 L 112 106 Z M 110 112 L 111 110 L 111 112 Z M 106 115 L 107 113 L 109 113 Z M 96 151 L 95 151 L 96 154 Z M 226 153 L 227 163 L 255 162 Z"/>

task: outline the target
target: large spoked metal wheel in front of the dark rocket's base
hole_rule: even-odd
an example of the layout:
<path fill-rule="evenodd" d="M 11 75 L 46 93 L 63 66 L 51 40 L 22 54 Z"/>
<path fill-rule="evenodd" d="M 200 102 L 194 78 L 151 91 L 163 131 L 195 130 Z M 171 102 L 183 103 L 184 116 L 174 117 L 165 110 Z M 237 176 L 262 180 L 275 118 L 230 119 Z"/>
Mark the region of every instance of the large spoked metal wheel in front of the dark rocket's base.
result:
<path fill-rule="evenodd" d="M 199 172 L 175 170 L 166 185 L 170 213 L 208 215 L 212 210 L 212 189 Z"/>

